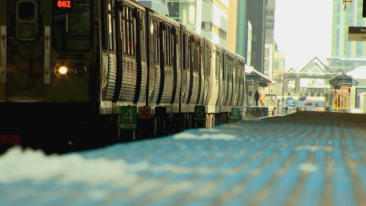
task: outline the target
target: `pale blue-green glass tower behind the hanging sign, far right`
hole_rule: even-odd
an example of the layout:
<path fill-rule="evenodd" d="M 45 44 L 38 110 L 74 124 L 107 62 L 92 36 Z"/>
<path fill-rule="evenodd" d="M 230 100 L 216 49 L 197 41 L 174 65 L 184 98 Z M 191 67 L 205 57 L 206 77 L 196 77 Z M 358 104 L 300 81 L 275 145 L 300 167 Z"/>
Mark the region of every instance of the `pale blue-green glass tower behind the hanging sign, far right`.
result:
<path fill-rule="evenodd" d="M 349 26 L 366 26 L 362 18 L 362 0 L 352 4 L 333 1 L 332 57 L 366 58 L 366 41 L 348 41 Z M 348 59 L 349 60 L 349 59 Z"/>

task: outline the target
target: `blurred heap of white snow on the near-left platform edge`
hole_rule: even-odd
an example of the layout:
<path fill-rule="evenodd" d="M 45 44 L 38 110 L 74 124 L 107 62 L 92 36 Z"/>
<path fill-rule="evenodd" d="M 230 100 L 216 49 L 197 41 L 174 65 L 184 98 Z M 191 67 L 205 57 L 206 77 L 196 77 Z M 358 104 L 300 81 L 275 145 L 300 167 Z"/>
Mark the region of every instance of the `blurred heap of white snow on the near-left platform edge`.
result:
<path fill-rule="evenodd" d="M 0 165 L 0 183 L 56 180 L 65 184 L 116 180 L 128 184 L 137 179 L 137 172 L 149 167 L 145 162 L 128 164 L 123 160 L 85 159 L 78 154 L 45 155 L 41 150 L 23 151 L 21 147 L 11 148 L 0 156 Z"/>

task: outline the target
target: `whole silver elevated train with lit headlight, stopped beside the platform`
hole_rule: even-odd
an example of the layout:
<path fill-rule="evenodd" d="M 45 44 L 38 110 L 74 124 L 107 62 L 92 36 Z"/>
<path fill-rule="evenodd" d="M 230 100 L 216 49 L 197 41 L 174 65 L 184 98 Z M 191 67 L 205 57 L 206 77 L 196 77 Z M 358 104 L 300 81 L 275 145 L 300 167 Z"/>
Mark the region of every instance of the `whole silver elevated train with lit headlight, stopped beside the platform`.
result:
<path fill-rule="evenodd" d="M 207 128 L 243 110 L 245 59 L 136 1 L 4 0 L 0 28 L 3 136 L 153 137 L 195 127 L 197 105 Z M 121 133 L 119 108 L 129 105 L 152 117 Z"/>

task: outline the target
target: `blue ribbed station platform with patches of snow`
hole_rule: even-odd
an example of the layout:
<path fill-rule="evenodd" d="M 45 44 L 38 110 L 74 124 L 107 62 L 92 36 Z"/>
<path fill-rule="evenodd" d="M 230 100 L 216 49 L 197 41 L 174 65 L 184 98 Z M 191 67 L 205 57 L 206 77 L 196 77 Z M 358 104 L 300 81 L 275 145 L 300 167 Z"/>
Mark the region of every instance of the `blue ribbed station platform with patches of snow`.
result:
<path fill-rule="evenodd" d="M 366 205 L 366 115 L 247 118 L 64 155 L 13 148 L 0 205 Z"/>

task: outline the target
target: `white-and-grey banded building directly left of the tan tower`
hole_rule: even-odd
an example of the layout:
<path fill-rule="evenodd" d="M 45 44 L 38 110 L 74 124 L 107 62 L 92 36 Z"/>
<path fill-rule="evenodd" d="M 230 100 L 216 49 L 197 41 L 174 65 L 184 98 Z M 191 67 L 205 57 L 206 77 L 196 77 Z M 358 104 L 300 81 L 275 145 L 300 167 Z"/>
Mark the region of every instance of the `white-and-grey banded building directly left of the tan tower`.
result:
<path fill-rule="evenodd" d="M 227 47 L 229 0 L 203 0 L 201 35 Z"/>

